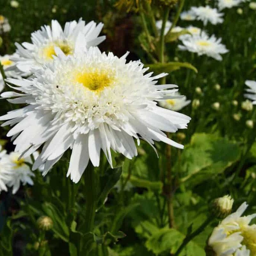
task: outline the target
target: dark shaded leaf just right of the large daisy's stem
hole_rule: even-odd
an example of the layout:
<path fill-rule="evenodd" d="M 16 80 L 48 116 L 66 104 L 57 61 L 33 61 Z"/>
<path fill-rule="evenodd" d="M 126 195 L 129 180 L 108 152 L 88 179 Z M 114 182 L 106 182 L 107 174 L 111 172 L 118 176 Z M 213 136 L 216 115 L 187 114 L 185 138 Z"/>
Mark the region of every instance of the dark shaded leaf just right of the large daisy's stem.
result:
<path fill-rule="evenodd" d="M 100 176 L 100 193 L 98 199 L 98 207 L 100 207 L 111 188 L 116 185 L 116 182 L 120 179 L 122 174 L 122 168 L 108 169 L 104 172 L 102 176 Z"/>

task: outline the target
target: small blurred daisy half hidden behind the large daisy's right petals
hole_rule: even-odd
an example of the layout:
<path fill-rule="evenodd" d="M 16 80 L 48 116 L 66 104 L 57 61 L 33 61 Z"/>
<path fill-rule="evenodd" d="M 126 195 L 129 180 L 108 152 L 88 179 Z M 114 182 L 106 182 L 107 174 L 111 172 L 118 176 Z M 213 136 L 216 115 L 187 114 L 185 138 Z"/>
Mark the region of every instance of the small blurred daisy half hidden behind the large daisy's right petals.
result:
<path fill-rule="evenodd" d="M 191 100 L 187 100 L 186 96 L 180 96 L 179 92 L 173 93 L 173 96 L 177 98 L 158 101 L 159 105 L 173 111 L 180 111 L 191 102 Z"/>

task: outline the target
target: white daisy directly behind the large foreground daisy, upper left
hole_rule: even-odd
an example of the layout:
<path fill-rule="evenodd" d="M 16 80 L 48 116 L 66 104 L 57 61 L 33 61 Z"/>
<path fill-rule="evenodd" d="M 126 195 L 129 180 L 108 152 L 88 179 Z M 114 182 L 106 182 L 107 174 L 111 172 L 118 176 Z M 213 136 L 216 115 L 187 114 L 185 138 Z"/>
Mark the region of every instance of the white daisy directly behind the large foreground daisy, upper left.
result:
<path fill-rule="evenodd" d="M 99 36 L 102 27 L 102 23 L 96 26 L 94 21 L 85 25 L 85 21 L 80 19 L 78 22 L 66 22 L 62 29 L 57 20 L 52 20 L 51 27 L 45 25 L 31 34 L 32 43 L 16 43 L 19 56 L 12 59 L 22 72 L 30 72 L 44 63 L 52 62 L 56 47 L 70 55 L 74 53 L 75 48 L 97 46 L 106 38 Z"/>

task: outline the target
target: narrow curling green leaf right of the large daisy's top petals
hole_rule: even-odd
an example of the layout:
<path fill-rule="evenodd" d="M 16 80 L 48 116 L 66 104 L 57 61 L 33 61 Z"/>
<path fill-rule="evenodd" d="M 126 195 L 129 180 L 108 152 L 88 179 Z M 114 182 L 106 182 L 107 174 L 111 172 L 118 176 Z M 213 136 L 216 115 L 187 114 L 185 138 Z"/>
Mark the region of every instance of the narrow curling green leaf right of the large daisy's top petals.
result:
<path fill-rule="evenodd" d="M 197 69 L 188 62 L 168 62 L 168 63 L 155 63 L 155 64 L 147 64 L 146 67 L 149 67 L 154 73 L 160 74 L 163 72 L 171 73 L 180 68 L 189 68 L 194 70 L 197 73 Z"/>

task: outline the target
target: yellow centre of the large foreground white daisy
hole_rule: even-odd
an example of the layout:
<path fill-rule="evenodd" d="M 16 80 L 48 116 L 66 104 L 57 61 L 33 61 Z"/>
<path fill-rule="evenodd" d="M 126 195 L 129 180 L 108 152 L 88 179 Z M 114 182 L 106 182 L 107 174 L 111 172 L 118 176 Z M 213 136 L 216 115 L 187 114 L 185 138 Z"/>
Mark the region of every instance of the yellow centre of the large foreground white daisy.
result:
<path fill-rule="evenodd" d="M 78 72 L 75 81 L 94 92 L 100 92 L 113 82 L 113 75 L 106 71 Z"/>

